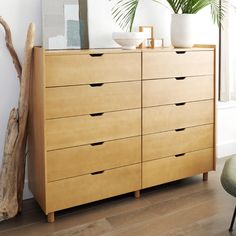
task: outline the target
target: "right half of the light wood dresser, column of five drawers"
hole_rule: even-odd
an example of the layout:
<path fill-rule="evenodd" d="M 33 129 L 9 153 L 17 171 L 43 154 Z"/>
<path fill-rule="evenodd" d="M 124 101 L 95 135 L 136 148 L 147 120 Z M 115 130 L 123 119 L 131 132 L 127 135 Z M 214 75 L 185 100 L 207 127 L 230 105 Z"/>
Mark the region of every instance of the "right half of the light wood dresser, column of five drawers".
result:
<path fill-rule="evenodd" d="M 215 52 L 143 52 L 142 188 L 215 169 Z"/>

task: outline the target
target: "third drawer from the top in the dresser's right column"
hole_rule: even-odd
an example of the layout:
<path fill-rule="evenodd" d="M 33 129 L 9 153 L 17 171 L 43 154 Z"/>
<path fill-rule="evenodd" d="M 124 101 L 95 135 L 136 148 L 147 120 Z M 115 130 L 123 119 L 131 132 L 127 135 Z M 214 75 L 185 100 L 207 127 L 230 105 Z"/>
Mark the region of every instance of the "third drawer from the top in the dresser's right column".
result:
<path fill-rule="evenodd" d="M 143 109 L 143 134 L 214 123 L 214 100 Z"/>

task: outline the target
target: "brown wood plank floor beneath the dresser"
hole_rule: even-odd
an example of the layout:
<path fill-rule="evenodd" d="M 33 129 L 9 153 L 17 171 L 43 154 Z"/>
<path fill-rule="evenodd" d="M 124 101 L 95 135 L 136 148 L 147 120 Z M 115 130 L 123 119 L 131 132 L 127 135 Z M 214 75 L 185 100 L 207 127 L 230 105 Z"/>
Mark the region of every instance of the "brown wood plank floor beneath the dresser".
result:
<path fill-rule="evenodd" d="M 138 200 L 127 194 L 72 208 L 58 212 L 53 224 L 27 200 L 21 215 L 0 223 L 0 235 L 236 235 L 228 232 L 236 200 L 220 185 L 223 163 L 208 182 L 196 176 L 142 191 Z"/>

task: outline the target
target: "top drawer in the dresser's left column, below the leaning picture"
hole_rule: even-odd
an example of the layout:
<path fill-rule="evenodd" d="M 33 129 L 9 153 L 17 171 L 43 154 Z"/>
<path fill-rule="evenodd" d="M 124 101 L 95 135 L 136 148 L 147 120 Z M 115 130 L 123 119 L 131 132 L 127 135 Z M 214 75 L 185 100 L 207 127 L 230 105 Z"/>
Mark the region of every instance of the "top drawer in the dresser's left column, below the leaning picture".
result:
<path fill-rule="evenodd" d="M 47 55 L 46 87 L 141 80 L 141 53 Z"/>

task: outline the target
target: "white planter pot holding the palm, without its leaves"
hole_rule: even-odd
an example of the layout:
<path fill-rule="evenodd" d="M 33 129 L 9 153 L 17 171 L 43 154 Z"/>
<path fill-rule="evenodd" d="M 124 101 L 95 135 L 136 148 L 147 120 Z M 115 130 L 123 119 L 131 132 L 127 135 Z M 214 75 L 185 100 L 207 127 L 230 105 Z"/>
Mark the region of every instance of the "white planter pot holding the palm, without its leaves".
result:
<path fill-rule="evenodd" d="M 191 48 L 195 39 L 195 14 L 173 14 L 171 18 L 171 43 L 178 48 Z"/>

